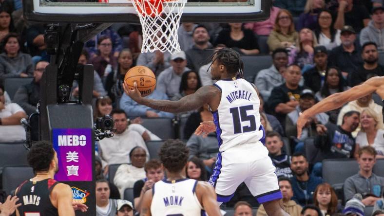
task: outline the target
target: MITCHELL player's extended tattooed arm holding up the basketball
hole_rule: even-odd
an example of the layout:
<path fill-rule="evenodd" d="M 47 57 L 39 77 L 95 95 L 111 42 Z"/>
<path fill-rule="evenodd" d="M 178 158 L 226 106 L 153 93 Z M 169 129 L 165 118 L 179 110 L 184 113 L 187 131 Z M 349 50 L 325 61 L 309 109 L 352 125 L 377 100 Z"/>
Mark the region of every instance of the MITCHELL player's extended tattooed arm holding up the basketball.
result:
<path fill-rule="evenodd" d="M 166 112 L 185 112 L 202 107 L 211 102 L 211 99 L 220 93 L 214 86 L 203 86 L 195 93 L 187 95 L 178 101 L 153 100 L 141 97 L 137 84 L 134 83 L 134 90 L 130 90 L 127 84 L 123 83 L 125 93 L 138 104 L 145 105 L 160 111 Z"/>

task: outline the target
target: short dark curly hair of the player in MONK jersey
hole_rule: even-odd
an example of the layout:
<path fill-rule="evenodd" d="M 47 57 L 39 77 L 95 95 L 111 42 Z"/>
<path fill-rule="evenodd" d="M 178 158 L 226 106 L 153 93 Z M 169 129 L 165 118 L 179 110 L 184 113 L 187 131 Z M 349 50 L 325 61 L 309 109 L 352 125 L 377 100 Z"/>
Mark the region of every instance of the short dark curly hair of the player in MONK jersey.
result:
<path fill-rule="evenodd" d="M 164 167 L 172 172 L 181 171 L 187 164 L 189 149 L 181 140 L 167 140 L 160 148 L 159 157 Z"/>

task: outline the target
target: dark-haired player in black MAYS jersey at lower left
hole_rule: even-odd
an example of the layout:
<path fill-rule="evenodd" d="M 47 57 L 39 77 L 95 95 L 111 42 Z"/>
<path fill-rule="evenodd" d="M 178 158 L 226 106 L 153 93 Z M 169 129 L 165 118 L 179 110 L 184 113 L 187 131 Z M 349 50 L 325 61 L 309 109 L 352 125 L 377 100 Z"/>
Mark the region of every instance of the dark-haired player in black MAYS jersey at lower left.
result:
<path fill-rule="evenodd" d="M 17 216 L 75 216 L 74 209 L 86 211 L 83 204 L 73 206 L 69 185 L 53 179 L 58 171 L 58 156 L 51 143 L 39 141 L 32 145 L 27 160 L 36 176 L 16 189 L 21 202 Z"/>

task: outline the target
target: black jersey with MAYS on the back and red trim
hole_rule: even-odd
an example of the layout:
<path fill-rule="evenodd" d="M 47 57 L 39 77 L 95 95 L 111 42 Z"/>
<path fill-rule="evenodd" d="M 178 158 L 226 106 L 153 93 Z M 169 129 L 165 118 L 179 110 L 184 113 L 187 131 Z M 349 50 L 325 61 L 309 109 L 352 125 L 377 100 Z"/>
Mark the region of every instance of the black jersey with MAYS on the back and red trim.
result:
<path fill-rule="evenodd" d="M 60 182 L 53 179 L 24 181 L 17 190 L 21 206 L 20 216 L 58 216 L 58 209 L 49 198 L 53 188 Z"/>

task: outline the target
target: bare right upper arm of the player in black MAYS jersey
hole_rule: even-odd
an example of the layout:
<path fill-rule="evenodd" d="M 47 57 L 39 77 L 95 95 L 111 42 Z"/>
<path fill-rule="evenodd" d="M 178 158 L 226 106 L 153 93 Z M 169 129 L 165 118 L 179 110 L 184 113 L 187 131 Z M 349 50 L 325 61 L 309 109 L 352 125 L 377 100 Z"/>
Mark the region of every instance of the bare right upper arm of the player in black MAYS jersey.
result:
<path fill-rule="evenodd" d="M 58 200 L 59 216 L 75 216 L 75 210 L 72 206 L 72 191 L 68 184 L 58 183 L 52 193 L 55 193 Z"/>

